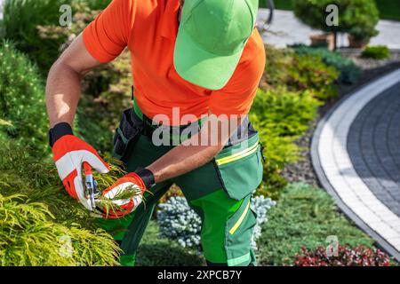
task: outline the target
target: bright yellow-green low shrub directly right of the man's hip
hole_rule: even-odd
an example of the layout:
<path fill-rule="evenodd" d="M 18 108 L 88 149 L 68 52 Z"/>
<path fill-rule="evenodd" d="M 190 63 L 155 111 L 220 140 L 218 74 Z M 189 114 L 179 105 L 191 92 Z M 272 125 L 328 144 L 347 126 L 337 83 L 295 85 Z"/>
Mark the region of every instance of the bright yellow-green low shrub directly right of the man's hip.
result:
<path fill-rule="evenodd" d="M 280 170 L 299 160 L 300 148 L 294 142 L 308 130 L 319 105 L 310 91 L 259 90 L 250 112 L 250 119 L 260 132 L 260 142 L 265 146 L 265 183 L 259 193 L 273 199 L 279 196 L 286 184 Z"/>

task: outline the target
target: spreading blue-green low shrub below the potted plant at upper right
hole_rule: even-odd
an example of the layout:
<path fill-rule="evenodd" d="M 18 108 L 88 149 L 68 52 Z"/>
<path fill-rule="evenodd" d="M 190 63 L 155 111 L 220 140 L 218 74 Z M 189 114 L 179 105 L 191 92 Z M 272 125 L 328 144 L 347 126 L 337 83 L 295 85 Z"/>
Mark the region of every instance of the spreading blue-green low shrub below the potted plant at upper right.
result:
<path fill-rule="evenodd" d="M 335 67 L 340 72 L 338 83 L 356 83 L 361 75 L 361 68 L 353 60 L 343 57 L 339 52 L 329 51 L 326 48 L 313 48 L 306 45 L 292 46 L 299 55 L 316 55 L 327 66 Z"/>

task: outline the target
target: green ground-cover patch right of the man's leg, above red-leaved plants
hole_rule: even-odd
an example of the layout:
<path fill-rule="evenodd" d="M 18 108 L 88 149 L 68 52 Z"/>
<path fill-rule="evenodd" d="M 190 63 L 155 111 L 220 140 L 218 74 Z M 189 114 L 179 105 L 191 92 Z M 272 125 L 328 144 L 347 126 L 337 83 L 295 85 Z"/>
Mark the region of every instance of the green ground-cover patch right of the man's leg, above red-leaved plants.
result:
<path fill-rule="evenodd" d="M 289 185 L 262 226 L 260 265 L 291 265 L 302 247 L 326 247 L 329 236 L 351 247 L 372 248 L 374 242 L 337 211 L 328 193 L 310 185 Z"/>

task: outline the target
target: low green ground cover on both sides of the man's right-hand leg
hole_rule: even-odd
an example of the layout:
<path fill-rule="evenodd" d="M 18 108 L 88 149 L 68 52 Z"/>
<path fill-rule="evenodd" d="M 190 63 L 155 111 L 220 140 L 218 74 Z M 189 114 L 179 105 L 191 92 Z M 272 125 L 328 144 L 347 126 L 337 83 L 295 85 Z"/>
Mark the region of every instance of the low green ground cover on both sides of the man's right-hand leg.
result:
<path fill-rule="evenodd" d="M 262 225 L 256 252 L 259 265 L 292 264 L 301 246 L 325 247 L 328 236 L 336 236 L 340 245 L 351 247 L 361 244 L 372 248 L 374 243 L 338 212 L 328 193 L 310 185 L 289 185 Z M 151 220 L 140 243 L 137 265 L 204 265 L 204 257 L 160 237 L 156 221 Z"/>

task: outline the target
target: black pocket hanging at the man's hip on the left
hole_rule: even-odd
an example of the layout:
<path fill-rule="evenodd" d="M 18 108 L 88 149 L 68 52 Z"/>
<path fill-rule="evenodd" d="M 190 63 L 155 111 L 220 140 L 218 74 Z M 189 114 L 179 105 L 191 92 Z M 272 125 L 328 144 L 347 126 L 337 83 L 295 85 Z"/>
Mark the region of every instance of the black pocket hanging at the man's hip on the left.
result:
<path fill-rule="evenodd" d="M 124 162 L 126 154 L 136 144 L 143 131 L 143 122 L 134 114 L 133 109 L 124 110 L 121 122 L 114 136 L 114 156 Z"/>

